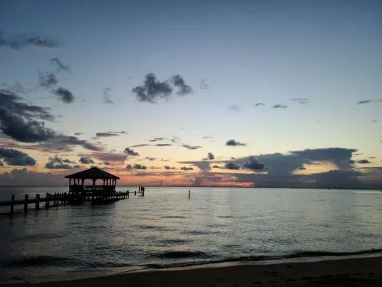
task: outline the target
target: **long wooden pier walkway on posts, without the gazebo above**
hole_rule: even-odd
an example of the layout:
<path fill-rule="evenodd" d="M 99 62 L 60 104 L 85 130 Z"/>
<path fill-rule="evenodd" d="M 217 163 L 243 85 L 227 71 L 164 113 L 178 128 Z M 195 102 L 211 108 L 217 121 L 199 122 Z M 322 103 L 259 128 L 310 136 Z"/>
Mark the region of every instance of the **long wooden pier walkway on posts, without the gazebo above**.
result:
<path fill-rule="evenodd" d="M 83 192 L 81 194 L 68 194 L 67 192 L 47 192 L 45 197 L 41 197 L 40 193 L 35 195 L 35 198 L 30 198 L 29 195 L 24 195 L 24 199 L 15 199 L 15 195 L 12 195 L 10 201 L 0 202 L 0 207 L 10 206 L 10 215 L 14 213 L 15 205 L 24 205 L 24 213 L 28 212 L 28 205 L 35 204 L 35 209 L 38 211 L 43 206 L 44 208 L 49 208 L 53 206 L 66 205 L 66 204 L 79 204 L 83 202 L 112 202 L 121 199 L 127 199 L 130 195 L 140 195 L 144 196 L 144 191 L 115 191 L 115 192 Z"/>

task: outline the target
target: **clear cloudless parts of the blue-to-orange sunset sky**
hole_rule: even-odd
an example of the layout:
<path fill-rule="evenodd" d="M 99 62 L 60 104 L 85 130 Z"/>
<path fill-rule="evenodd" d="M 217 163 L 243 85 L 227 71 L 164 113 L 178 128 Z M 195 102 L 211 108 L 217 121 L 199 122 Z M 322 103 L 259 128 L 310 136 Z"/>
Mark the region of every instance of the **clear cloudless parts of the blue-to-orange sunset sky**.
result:
<path fill-rule="evenodd" d="M 6 69 L 0 70 L 0 84 L 8 88 L 21 84 L 27 91 L 22 94 L 23 101 L 51 107 L 52 115 L 61 116 L 56 122 L 46 121 L 45 127 L 65 136 L 81 132 L 79 140 L 103 146 L 103 151 L 89 151 L 83 145 L 68 147 L 65 152 L 52 145 L 51 150 L 42 150 L 41 145 L 49 140 L 20 142 L 7 134 L 2 122 L 3 148 L 35 158 L 35 165 L 24 165 L 27 172 L 62 175 L 87 167 L 72 164 L 72 170 L 48 170 L 49 156 L 55 154 L 76 163 L 86 155 L 94 159 L 94 165 L 100 165 L 99 152 L 126 155 L 126 161 L 106 167 L 124 175 L 126 182 L 138 182 L 136 171 L 126 170 L 126 165 L 135 163 L 152 167 L 142 170 L 147 177 L 139 177 L 148 183 L 163 178 L 169 182 L 179 178 L 179 183 L 204 177 L 224 181 L 224 172 L 233 179 L 227 182 L 240 181 L 226 168 L 213 174 L 213 163 L 209 170 L 200 169 L 208 152 L 221 161 L 217 162 L 220 167 L 231 157 L 241 158 L 238 164 L 242 166 L 251 155 L 304 149 L 323 153 L 317 166 L 308 169 L 311 173 L 339 169 L 356 174 L 360 167 L 379 171 L 376 168 L 382 165 L 381 1 L 2 4 L 0 28 L 6 42 L 0 47 L 0 62 Z M 9 43 L 20 34 L 47 37 L 60 44 L 15 49 Z M 52 58 L 72 72 L 57 72 Z M 39 86 L 39 71 L 55 74 L 58 83 L 49 88 Z M 142 85 L 149 73 L 158 81 L 180 75 L 192 93 L 179 97 L 175 88 L 171 97 L 158 99 L 156 104 L 138 101 L 132 89 Z M 201 88 L 202 80 L 208 87 Z M 52 90 L 58 87 L 72 92 L 74 101 L 65 104 L 53 95 Z M 110 88 L 108 95 L 114 104 L 103 102 L 105 88 Z M 365 100 L 365 104 L 358 104 Z M 258 103 L 263 105 L 254 107 Z M 274 108 L 276 105 L 286 107 Z M 93 138 L 107 131 L 128 134 Z M 178 138 L 175 143 L 171 141 L 174 137 Z M 124 153 L 126 147 L 147 144 L 153 138 L 167 138 L 163 142 L 173 146 L 135 147 L 140 156 Z M 247 145 L 227 146 L 230 139 Z M 328 149 L 335 147 L 357 149 L 346 160 L 367 159 L 369 163 L 354 163 L 347 170 L 329 164 L 322 170 L 318 166 L 331 160 Z M 188 166 L 194 170 L 176 170 L 172 177 L 163 174 L 166 170 L 161 163 L 146 157 L 165 158 L 178 169 L 185 165 L 182 162 L 193 162 Z M 8 172 L 3 177 L 7 183 L 10 170 L 24 166 L 8 165 L 5 158 L 3 155 L 0 168 Z M 198 161 L 201 163 L 195 163 Z M 312 164 L 307 161 L 304 163 Z M 265 163 L 263 172 L 272 168 Z M 241 167 L 234 172 L 259 171 Z"/>

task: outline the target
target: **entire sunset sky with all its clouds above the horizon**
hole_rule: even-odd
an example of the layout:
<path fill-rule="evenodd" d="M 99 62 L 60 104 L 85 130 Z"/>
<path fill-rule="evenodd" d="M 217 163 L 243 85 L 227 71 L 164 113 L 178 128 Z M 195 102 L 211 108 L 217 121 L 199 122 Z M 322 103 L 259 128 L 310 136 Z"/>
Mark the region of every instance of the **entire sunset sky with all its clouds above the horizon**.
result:
<path fill-rule="evenodd" d="M 0 185 L 382 186 L 382 2 L 1 1 Z"/>

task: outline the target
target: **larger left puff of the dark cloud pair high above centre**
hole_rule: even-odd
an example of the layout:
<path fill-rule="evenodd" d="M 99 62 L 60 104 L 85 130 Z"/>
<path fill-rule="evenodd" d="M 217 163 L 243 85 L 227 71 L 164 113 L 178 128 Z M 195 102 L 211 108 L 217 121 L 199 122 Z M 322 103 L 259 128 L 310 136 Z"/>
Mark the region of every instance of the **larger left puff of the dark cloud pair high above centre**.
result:
<path fill-rule="evenodd" d="M 166 99 L 172 94 L 172 87 L 168 81 L 158 81 L 156 75 L 149 73 L 144 77 L 142 85 L 137 85 L 131 90 L 138 101 L 147 101 L 156 104 L 158 98 Z"/>

